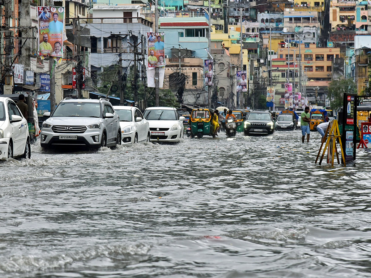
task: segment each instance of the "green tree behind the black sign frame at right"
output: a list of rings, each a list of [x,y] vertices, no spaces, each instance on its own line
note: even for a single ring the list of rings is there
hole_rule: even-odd
[[[344,93],[357,93],[357,85],[353,79],[336,79],[329,83],[328,97],[331,109],[343,106]]]

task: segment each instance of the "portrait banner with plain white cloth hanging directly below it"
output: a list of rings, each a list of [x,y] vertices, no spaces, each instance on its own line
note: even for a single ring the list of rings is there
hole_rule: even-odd
[[[165,41],[164,41],[164,32],[148,32],[148,69],[154,67],[164,67],[165,66]]]

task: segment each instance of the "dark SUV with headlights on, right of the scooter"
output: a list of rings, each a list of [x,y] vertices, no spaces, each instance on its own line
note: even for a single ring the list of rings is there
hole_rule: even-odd
[[[244,122],[244,133],[272,134],[275,124],[269,111],[251,111]]]

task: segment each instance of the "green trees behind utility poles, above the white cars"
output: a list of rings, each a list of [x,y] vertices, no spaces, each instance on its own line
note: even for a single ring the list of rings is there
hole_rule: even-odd
[[[120,86],[124,89],[124,99],[134,100],[134,71],[123,73],[120,78],[118,65],[103,67],[102,73],[98,74],[100,85],[98,92],[106,95],[112,84],[109,95],[120,97]],[[147,107],[155,106],[155,88],[147,87],[147,84],[138,79],[137,81],[138,100],[147,100]],[[179,107],[179,102],[171,90],[159,92],[160,106]]]

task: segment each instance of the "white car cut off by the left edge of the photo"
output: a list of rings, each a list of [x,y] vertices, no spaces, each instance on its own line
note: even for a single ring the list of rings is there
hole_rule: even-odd
[[[0,160],[31,157],[27,120],[9,97],[0,97]]]

